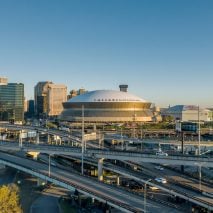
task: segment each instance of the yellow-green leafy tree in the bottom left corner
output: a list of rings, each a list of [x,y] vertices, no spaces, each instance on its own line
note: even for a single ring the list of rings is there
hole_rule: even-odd
[[[22,213],[19,204],[19,189],[15,184],[0,187],[0,212]]]

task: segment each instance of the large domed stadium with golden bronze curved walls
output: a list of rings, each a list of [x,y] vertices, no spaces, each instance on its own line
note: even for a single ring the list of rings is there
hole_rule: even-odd
[[[128,92],[95,90],[63,103],[60,120],[81,122],[146,122],[152,120],[151,103]]]

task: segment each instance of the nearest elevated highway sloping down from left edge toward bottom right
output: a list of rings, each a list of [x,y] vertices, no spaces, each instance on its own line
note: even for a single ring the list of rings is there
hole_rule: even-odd
[[[1,152],[0,163],[16,168],[20,171],[32,174],[43,180],[52,182],[56,185],[73,191],[77,189],[79,192],[93,197],[101,202],[108,203],[123,212],[143,212],[143,197],[124,191],[120,188],[113,187],[92,178],[70,173],[57,167],[51,167],[51,175],[48,175],[48,165],[33,160],[5,154]],[[160,204],[147,202],[147,210],[149,212],[160,213],[162,206]],[[178,211],[165,207],[165,213]]]

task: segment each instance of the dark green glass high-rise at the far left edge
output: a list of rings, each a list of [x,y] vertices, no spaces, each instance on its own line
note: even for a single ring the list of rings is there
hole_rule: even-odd
[[[0,120],[23,122],[24,84],[7,83],[7,81],[0,84]]]

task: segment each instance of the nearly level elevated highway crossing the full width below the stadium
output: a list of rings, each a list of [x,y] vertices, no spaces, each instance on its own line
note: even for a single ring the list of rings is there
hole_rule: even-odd
[[[82,156],[82,149],[71,146],[56,146],[56,145],[44,145],[44,144],[31,144],[17,142],[0,142],[0,149],[2,150],[23,150],[26,152],[41,152],[47,154],[57,155],[71,155]],[[170,165],[187,165],[195,166],[201,164],[202,167],[213,167],[213,158],[201,157],[194,155],[173,155],[173,156],[158,156],[141,152],[129,152],[129,151],[116,151],[116,150],[103,150],[87,148],[84,152],[85,157],[94,157],[97,159],[113,159],[132,162],[145,162],[145,163],[158,163],[158,164],[170,164]]]

